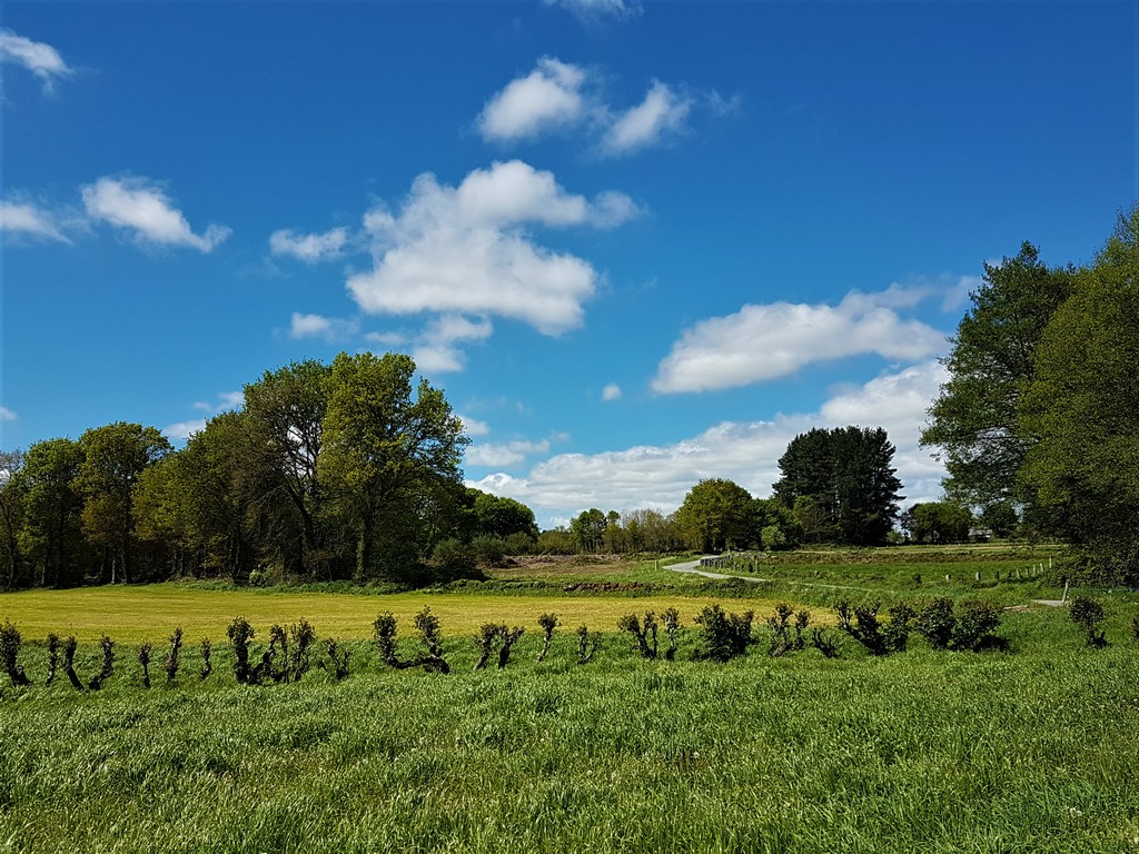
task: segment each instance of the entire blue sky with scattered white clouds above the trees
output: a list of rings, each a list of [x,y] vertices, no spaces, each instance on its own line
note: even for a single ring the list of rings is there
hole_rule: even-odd
[[[935,499],[982,263],[1139,198],[1137,9],[6,2],[0,446],[392,350],[542,525],[846,424]]]

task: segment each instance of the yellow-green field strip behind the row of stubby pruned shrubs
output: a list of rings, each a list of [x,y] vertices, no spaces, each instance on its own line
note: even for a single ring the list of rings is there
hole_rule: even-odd
[[[387,593],[362,596],[327,592],[277,592],[259,590],[202,590],[172,584],[104,586],[81,590],[27,590],[0,594],[0,622],[10,619],[27,640],[49,632],[74,634],[79,641],[98,641],[104,634],[123,643],[165,641],[175,626],[187,638],[226,637],[236,616],[254,626],[288,625],[304,617],[325,638],[344,640],[371,637],[371,623],[390,610],[400,621],[401,634],[413,632],[411,619],[424,606],[440,618],[446,635],[473,634],[486,622],[527,629],[540,614],[558,615],[565,626],[588,625],[593,631],[615,631],[617,618],[633,611],[677,608],[690,623],[713,598],[657,596],[558,597],[480,596],[475,593]],[[767,599],[732,599],[728,610],[754,610],[765,616],[775,606]],[[821,609],[816,619],[826,621]]]

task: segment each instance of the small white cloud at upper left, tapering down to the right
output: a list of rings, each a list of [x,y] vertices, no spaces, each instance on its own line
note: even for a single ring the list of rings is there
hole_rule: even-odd
[[[162,189],[141,178],[100,178],[83,187],[82,192],[89,216],[130,229],[145,243],[212,252],[231,233],[224,225],[210,225],[204,235],[194,233]]]

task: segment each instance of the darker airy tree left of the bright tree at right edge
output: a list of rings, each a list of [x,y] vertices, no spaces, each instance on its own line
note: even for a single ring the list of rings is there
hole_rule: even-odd
[[[949,380],[921,434],[923,445],[941,450],[945,491],[958,502],[986,507],[1017,498],[1016,474],[1032,441],[1018,427],[1017,404],[1074,276],[1046,266],[1025,243],[1016,257],[985,264],[984,284],[969,295],[973,305],[945,360]]]

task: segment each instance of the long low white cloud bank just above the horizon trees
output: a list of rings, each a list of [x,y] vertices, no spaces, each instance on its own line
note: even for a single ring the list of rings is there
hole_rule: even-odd
[[[816,413],[727,421],[672,445],[558,454],[525,476],[499,471],[470,485],[517,499],[546,518],[573,517],[589,507],[671,512],[706,477],[729,478],[754,495],[769,495],[779,479],[779,457],[795,436],[812,427],[858,425],[885,428],[896,446],[894,466],[903,482],[903,506],[933,501],[941,494],[944,469],[918,447],[918,437],[926,408],[944,379],[939,362],[924,362],[846,389]]]

